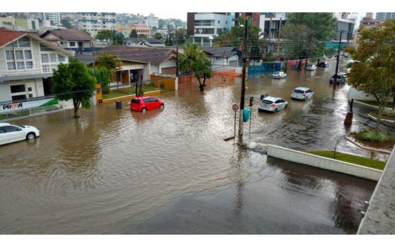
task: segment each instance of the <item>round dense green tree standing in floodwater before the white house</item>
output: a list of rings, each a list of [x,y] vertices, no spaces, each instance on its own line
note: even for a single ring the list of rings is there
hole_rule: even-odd
[[[59,64],[54,70],[53,92],[59,100],[73,100],[74,117],[78,118],[78,109],[90,107],[90,98],[95,93],[96,79],[89,74],[87,66],[75,58],[68,64]]]

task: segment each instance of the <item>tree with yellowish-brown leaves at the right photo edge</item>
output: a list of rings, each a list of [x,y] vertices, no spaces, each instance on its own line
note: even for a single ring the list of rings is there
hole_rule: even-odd
[[[378,132],[384,107],[395,97],[395,20],[374,28],[362,26],[358,35],[358,47],[346,49],[355,60],[347,76],[348,84],[376,98]]]

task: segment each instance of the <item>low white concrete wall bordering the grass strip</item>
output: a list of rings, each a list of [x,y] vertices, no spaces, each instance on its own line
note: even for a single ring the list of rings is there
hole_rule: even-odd
[[[351,164],[340,160],[334,160],[331,158],[325,158],[318,155],[312,155],[309,153],[304,153],[285,147],[278,147],[275,145],[268,145],[267,156],[273,156],[276,158],[281,158],[283,160],[289,160],[292,162],[315,166],[335,172],[346,173],[349,175],[363,177],[374,181],[378,181],[382,173],[382,171],[378,169],[359,166],[356,164]]]

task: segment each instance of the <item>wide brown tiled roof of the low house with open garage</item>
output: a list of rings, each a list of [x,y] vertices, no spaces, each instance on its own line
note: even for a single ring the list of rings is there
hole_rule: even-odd
[[[150,47],[131,47],[125,45],[107,46],[102,49],[124,60],[137,60],[150,62],[152,65],[159,66],[169,59],[175,59],[175,49],[171,48],[150,48]]]

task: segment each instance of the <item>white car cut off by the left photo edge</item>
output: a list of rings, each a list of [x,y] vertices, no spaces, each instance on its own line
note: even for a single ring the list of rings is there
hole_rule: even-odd
[[[39,136],[40,131],[36,127],[0,123],[0,145],[15,141],[34,140]]]

